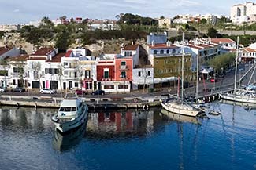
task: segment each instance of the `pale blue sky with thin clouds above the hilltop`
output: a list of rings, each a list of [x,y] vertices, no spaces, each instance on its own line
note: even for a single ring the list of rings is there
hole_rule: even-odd
[[[0,0],[0,24],[26,24],[43,16],[80,16],[115,19],[119,13],[150,17],[173,17],[177,14],[228,15],[232,5],[244,0]]]

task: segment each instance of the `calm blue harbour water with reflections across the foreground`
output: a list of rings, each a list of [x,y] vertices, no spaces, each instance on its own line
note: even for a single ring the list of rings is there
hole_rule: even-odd
[[[0,109],[0,169],[256,169],[256,110],[212,103],[196,120],[161,109],[91,113],[61,136],[56,110]]]

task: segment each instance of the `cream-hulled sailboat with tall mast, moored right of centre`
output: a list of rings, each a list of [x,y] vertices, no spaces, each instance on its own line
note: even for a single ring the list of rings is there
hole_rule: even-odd
[[[174,114],[183,114],[187,116],[195,117],[197,116],[201,110],[194,107],[190,103],[186,103],[184,101],[184,33],[183,33],[183,45],[182,45],[182,68],[181,68],[181,98],[172,96],[169,99],[165,99],[161,101],[161,106],[170,112],[173,112]]]

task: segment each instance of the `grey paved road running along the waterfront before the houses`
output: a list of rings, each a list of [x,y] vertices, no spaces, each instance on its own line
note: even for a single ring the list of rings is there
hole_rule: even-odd
[[[237,74],[237,81],[239,78],[245,74],[250,67],[252,67],[252,64],[240,64],[238,67],[238,74]],[[243,81],[240,83],[241,85],[247,85],[248,81],[250,80],[250,74],[253,72],[254,69],[250,71],[250,73],[243,79]],[[210,94],[210,92],[217,92],[219,90],[228,90],[232,89],[234,86],[234,75],[235,75],[235,68],[232,68],[231,71],[228,71],[228,73],[224,76],[224,78],[217,78],[217,82],[210,82],[203,80],[198,82],[198,96],[204,96],[207,94]],[[256,73],[254,73],[254,76],[252,78],[252,81],[255,82],[256,80]],[[239,85],[240,85],[239,84]],[[215,87],[215,91],[213,90]],[[206,90],[205,90],[206,89]],[[120,97],[144,97],[144,98],[152,98],[154,96],[161,96],[163,94],[168,94],[169,92],[172,94],[176,94],[177,88],[175,87],[169,87],[169,88],[163,88],[162,90],[158,89],[156,92],[145,92],[143,91],[135,91],[135,92],[119,92],[119,93],[106,93],[105,96],[92,96],[92,95],[85,95],[83,97],[87,98],[120,98]],[[2,92],[2,95],[10,95],[10,96],[52,96],[52,97],[61,97],[61,93],[56,94],[41,94],[39,92]],[[187,96],[195,96],[195,86],[184,89],[184,95]]]

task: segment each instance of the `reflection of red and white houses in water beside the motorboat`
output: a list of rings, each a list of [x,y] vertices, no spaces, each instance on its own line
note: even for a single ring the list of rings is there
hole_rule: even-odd
[[[87,136],[92,138],[145,136],[153,131],[154,120],[158,117],[158,114],[154,114],[154,110],[90,113],[87,122]]]

